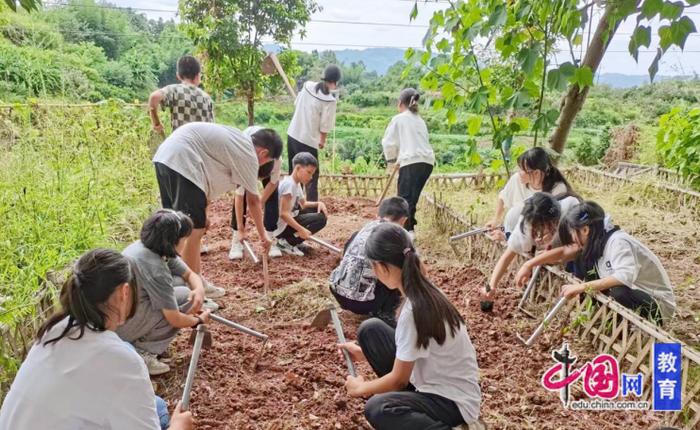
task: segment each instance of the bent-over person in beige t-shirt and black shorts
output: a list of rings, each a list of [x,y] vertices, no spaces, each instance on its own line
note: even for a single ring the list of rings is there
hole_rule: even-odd
[[[208,203],[239,185],[248,191],[250,213],[263,248],[269,250],[258,195],[258,169],[281,153],[282,140],[274,130],[260,130],[248,137],[233,127],[205,122],[183,125],[158,147],[153,163],[163,207],[187,214],[194,223],[182,252],[193,272],[201,274],[199,252],[208,225]],[[207,296],[224,294],[223,288],[206,280],[204,284]]]

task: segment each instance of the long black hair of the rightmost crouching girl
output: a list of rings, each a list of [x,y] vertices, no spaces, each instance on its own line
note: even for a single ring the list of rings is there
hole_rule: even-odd
[[[559,238],[563,245],[574,243],[572,232],[588,227],[588,240],[581,250],[580,262],[586,268],[593,267],[603,255],[609,235],[605,231],[605,211],[596,202],[585,201],[571,208],[559,222]]]

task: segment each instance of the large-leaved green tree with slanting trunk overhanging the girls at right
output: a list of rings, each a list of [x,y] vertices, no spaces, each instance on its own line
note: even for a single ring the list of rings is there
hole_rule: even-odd
[[[637,59],[640,47],[651,44],[650,21],[657,17],[662,25],[657,56],[649,67],[654,78],[659,59],[672,46],[681,49],[695,26],[686,8],[700,0],[609,0],[602,3],[603,14],[590,39],[590,16],[597,2],[579,0],[457,0],[437,11],[430,22],[422,54],[407,51],[407,58],[418,60],[426,69],[422,85],[440,91],[436,106],[444,108],[448,122],[456,121],[456,112],[464,107],[488,115],[493,143],[507,152],[515,133],[534,132],[538,137],[552,126],[550,145],[564,148],[573,120],[593,85],[593,76],[620,22],[637,17],[630,37],[630,54]],[[411,18],[418,13],[417,2]],[[586,27],[588,26],[588,36]],[[575,51],[589,38],[583,58]],[[571,61],[552,64],[555,47],[568,46]],[[505,77],[497,73],[506,66]],[[568,87],[559,109],[544,104],[545,91]],[[502,114],[498,114],[500,111]],[[527,116],[534,118],[528,121]],[[471,117],[470,130],[478,130],[480,119]]]

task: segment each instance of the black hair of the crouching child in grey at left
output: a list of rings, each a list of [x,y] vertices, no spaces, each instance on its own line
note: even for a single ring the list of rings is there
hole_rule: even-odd
[[[180,239],[192,234],[192,219],[182,212],[160,209],[143,223],[141,243],[161,257],[175,258]]]

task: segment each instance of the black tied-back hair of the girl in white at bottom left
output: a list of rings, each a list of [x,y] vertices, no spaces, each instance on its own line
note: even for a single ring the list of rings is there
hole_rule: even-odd
[[[136,280],[129,260],[111,249],[94,249],[83,254],[73,266],[70,277],[61,288],[61,311],[49,318],[37,333],[40,342],[53,326],[68,317],[68,325],[58,336],[44,341],[44,346],[58,342],[77,327],[78,334],[68,337],[77,340],[85,329],[105,331],[107,320],[105,304],[112,293],[125,282],[131,287],[131,310],[136,312]]]

